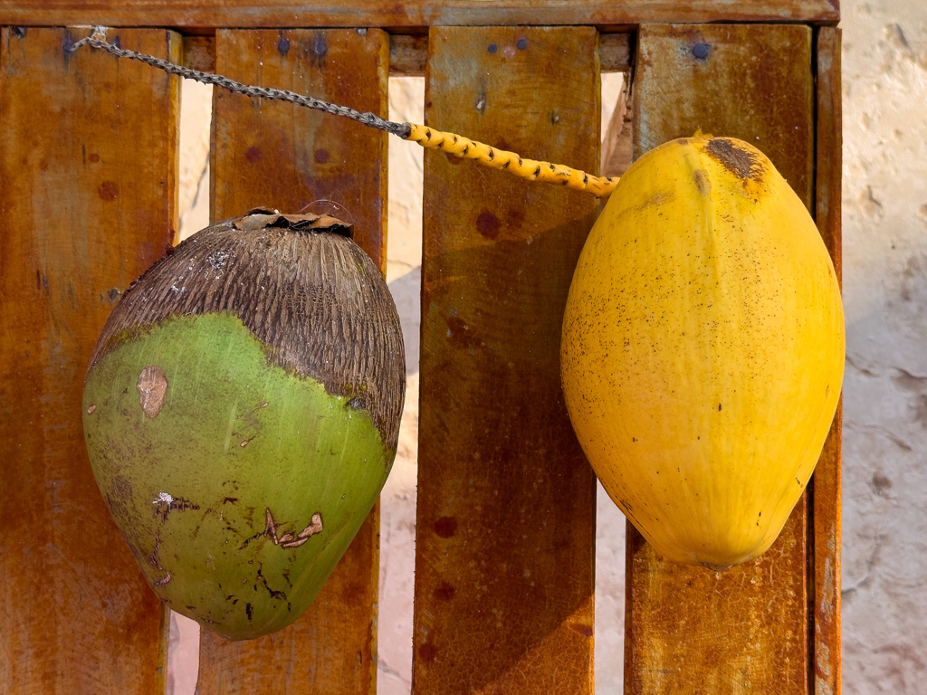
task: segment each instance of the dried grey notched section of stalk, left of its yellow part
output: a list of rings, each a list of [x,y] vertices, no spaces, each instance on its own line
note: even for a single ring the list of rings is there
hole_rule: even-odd
[[[379,116],[376,116],[369,111],[367,113],[361,113],[353,108],[341,107],[337,104],[329,104],[327,101],[322,101],[321,99],[315,99],[311,96],[298,95],[296,92],[290,92],[286,89],[273,89],[272,87],[258,87],[253,84],[243,84],[242,82],[235,82],[235,80],[230,80],[227,77],[222,75],[215,75],[210,72],[200,72],[192,68],[184,68],[180,65],[175,65],[169,60],[162,60],[154,56],[148,56],[146,53],[138,53],[137,51],[129,51],[119,46],[110,44],[104,39],[95,38],[97,36],[105,36],[105,32],[100,27],[95,27],[94,32],[87,36],[84,39],[81,39],[75,44],[71,44],[66,48],[69,53],[73,53],[78,48],[83,45],[89,45],[94,48],[102,48],[104,51],[111,53],[116,57],[127,57],[132,58],[133,60],[138,60],[140,62],[146,63],[154,68],[162,69],[165,72],[170,73],[171,75],[180,75],[188,80],[196,80],[197,82],[203,82],[204,84],[215,84],[217,87],[222,87],[222,89],[227,89],[229,92],[235,92],[235,94],[246,95],[246,96],[257,96],[261,99],[271,99],[273,101],[286,101],[290,104],[297,104],[300,107],[314,108],[318,111],[324,111],[325,113],[330,113],[333,116],[344,116],[350,120],[356,120],[358,123],[363,125],[370,126],[371,128],[376,128],[380,131],[386,131],[387,133],[392,133],[398,135],[403,140],[409,137],[409,133],[412,132],[412,126],[409,123],[395,123],[391,120],[381,119]]]

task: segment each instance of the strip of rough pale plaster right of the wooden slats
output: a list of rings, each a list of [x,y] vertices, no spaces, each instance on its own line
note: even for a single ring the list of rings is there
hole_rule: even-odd
[[[927,3],[844,0],[844,692],[927,692]]]

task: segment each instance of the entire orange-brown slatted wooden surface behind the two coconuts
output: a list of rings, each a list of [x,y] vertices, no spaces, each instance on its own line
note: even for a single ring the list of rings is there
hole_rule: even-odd
[[[838,19],[837,0],[0,0],[0,691],[164,689],[165,613],[97,492],[79,409],[109,310],[176,238],[179,82],[68,56],[88,30],[62,26],[116,27],[123,47],[382,116],[390,70],[424,74],[429,125],[587,171],[601,71],[631,69],[635,156],[696,128],[755,142],[839,272]],[[212,139],[214,219],[351,200],[385,268],[386,134],[217,90]],[[420,695],[592,692],[595,479],[557,354],[597,212],[425,154]],[[839,693],[840,441],[838,415],[756,562],[673,565],[629,526],[627,693]],[[375,510],[295,625],[246,643],[204,633],[199,692],[373,693],[377,568]]]

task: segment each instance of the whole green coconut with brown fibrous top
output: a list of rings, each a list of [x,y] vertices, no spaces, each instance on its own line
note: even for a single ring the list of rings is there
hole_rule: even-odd
[[[349,234],[267,208],[205,229],[125,293],[90,361],[109,512],[160,600],[225,638],[310,606],[396,454],[399,316]]]

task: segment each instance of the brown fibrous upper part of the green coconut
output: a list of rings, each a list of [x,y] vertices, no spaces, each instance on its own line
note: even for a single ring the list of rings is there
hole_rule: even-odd
[[[166,319],[227,312],[264,345],[269,362],[369,411],[395,450],[405,397],[399,315],[350,234],[333,217],[270,208],[194,234],[126,291],[89,368]]]

